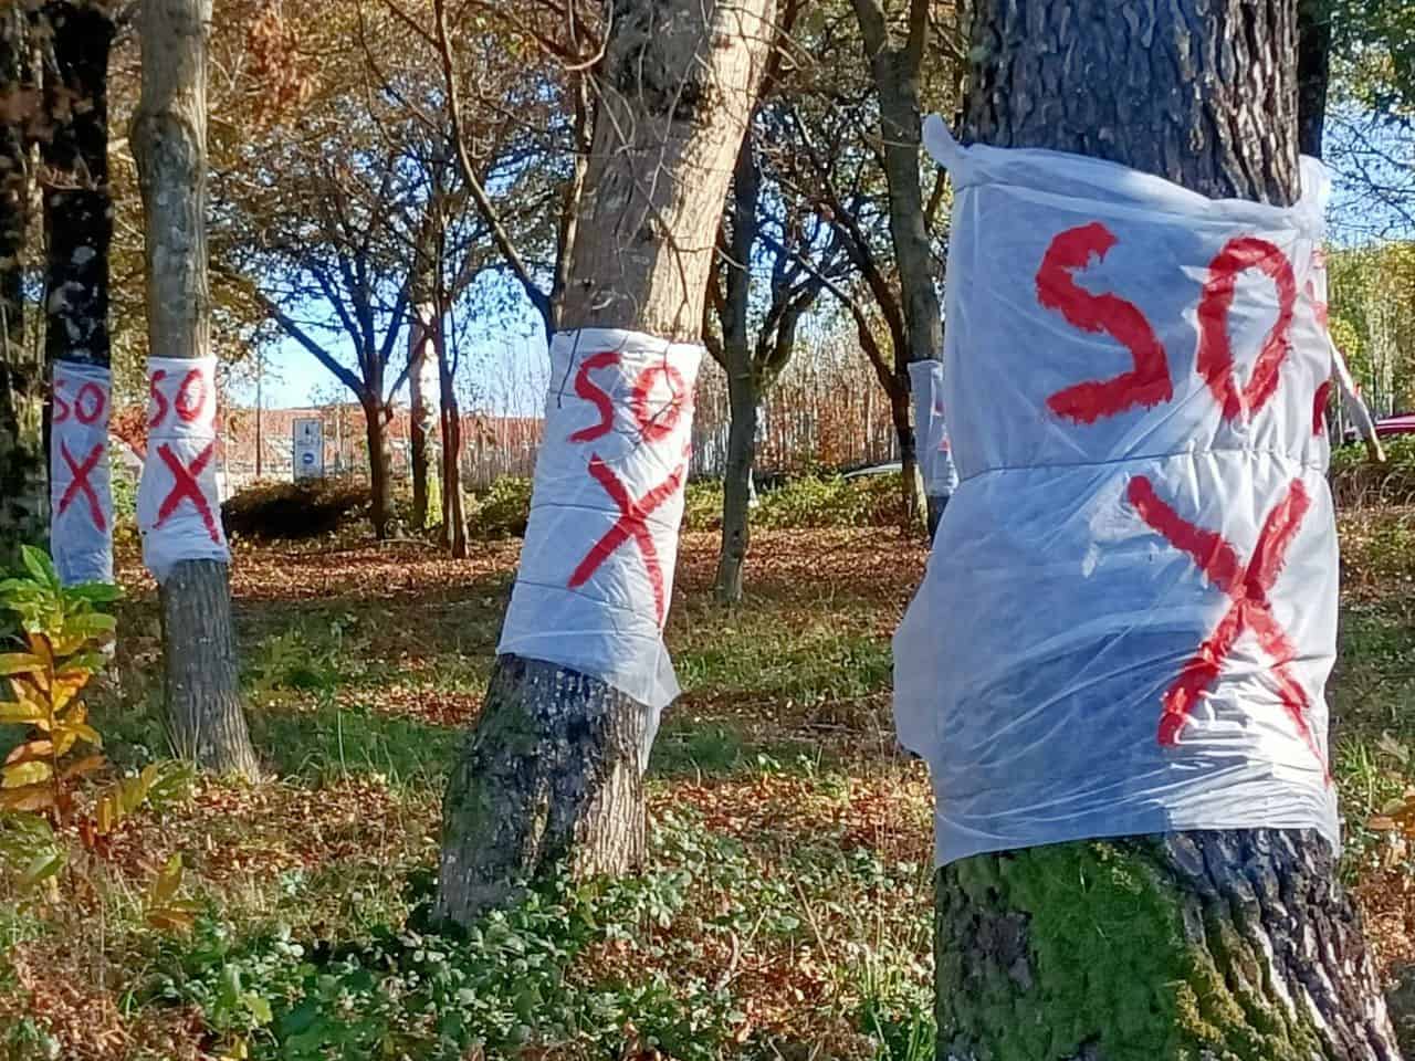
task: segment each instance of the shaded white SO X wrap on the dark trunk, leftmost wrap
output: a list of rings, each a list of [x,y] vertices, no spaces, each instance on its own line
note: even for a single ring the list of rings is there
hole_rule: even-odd
[[[112,376],[106,368],[71,361],[54,364],[50,547],[65,586],[113,581],[110,403]]]

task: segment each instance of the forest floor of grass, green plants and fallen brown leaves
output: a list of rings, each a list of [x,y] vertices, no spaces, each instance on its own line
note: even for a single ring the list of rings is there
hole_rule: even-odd
[[[1415,784],[1415,509],[1348,516],[1343,538],[1344,869],[1395,983],[1415,965],[1415,873],[1367,822]],[[443,779],[516,547],[241,547],[270,778],[188,779],[52,891],[0,883],[0,1058],[931,1057],[931,796],[889,705],[923,543],[760,532],[729,611],[715,536],[686,535],[668,630],[685,696],[654,750],[649,871],[550,881],[437,935],[422,911]],[[95,724],[139,768],[167,755],[157,611],[136,557],[122,580]],[[200,912],[158,931],[144,895],[173,853]]]

